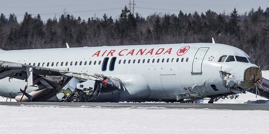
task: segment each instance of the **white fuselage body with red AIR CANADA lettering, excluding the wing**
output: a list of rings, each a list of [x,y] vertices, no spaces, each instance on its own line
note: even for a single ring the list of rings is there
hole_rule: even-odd
[[[222,56],[249,58],[238,48],[211,43],[0,51],[1,61],[68,68],[72,72],[98,73],[120,79],[124,74],[138,74],[148,84],[149,99],[153,100],[205,98],[230,93],[220,76],[221,70],[235,74],[236,82],[242,81],[245,69],[257,67],[237,61],[218,62]],[[108,58],[107,64],[105,58]],[[0,96],[13,98],[25,84],[22,80],[1,79]],[[136,84],[139,85],[135,83],[134,87]]]

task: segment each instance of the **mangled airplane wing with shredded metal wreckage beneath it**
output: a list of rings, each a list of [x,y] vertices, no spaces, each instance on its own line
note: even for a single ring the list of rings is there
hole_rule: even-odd
[[[69,102],[95,101],[102,87],[120,89],[121,80],[101,74],[86,74],[64,69],[31,66],[26,64],[0,61],[0,79],[5,77],[25,80],[22,95],[17,101],[46,101],[57,96]],[[35,87],[29,94],[28,86]]]

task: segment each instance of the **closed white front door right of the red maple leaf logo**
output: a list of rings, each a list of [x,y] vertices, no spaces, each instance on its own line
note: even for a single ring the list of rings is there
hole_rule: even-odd
[[[202,65],[203,65],[203,60],[205,58],[206,52],[208,51],[209,48],[203,47],[199,48],[193,58],[192,62],[192,71],[191,74],[202,74]]]

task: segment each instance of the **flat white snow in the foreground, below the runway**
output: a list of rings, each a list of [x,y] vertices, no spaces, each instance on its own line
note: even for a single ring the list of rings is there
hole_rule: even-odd
[[[268,111],[0,106],[0,134],[268,134]]]

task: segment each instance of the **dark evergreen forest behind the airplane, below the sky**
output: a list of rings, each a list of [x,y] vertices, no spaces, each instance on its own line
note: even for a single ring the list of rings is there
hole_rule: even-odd
[[[41,20],[38,14],[24,14],[18,23],[15,14],[0,15],[0,48],[39,49],[136,44],[212,42],[238,47],[262,69],[269,69],[269,7],[239,15],[230,13],[153,14],[146,18],[125,6],[120,17],[90,17],[88,20],[63,13],[59,18]]]

